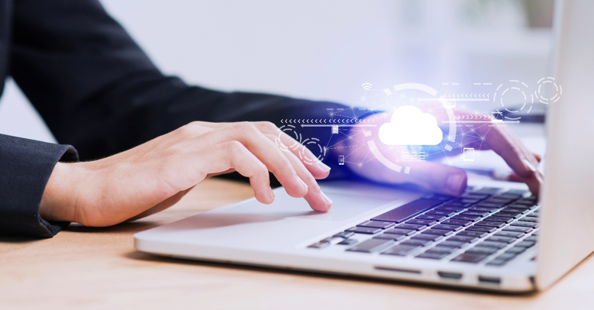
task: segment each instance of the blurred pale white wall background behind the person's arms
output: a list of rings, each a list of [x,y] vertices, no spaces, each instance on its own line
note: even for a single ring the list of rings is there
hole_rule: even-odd
[[[548,30],[513,1],[102,0],[166,74],[222,90],[355,103],[361,84],[536,81]],[[53,137],[8,81],[0,132]]]

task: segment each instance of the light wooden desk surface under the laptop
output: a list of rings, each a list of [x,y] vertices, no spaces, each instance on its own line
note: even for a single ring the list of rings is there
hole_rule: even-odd
[[[251,197],[210,179],[169,210],[52,239],[0,239],[0,309],[579,309],[594,307],[589,257],[544,293],[497,295],[419,284],[175,260],[136,252],[132,234]]]

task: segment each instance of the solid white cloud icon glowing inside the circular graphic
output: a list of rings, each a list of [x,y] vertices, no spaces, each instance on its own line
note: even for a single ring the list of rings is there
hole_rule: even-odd
[[[442,137],[435,117],[414,106],[399,107],[380,127],[380,141],[388,145],[435,145]]]

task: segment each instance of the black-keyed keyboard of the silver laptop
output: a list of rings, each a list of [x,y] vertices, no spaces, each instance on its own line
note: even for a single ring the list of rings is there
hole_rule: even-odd
[[[366,220],[308,248],[501,266],[536,244],[538,209],[530,192],[468,188],[431,194]],[[355,235],[370,238],[359,242]],[[358,238],[361,239],[361,238]]]

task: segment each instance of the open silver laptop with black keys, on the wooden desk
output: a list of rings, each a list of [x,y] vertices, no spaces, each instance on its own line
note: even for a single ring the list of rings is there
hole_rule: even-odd
[[[551,286],[594,251],[594,11],[555,7],[546,178],[469,181],[461,197],[353,182],[323,182],[328,213],[274,190],[134,235],[138,251],[191,260],[443,284],[502,292]]]

